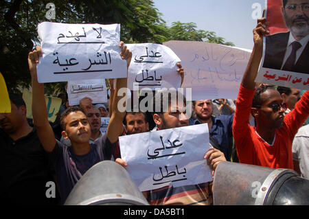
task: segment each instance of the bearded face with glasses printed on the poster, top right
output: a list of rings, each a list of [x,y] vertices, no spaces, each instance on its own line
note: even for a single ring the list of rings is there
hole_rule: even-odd
[[[309,34],[309,1],[289,0],[282,8],[282,14],[288,30],[296,40],[300,40]]]

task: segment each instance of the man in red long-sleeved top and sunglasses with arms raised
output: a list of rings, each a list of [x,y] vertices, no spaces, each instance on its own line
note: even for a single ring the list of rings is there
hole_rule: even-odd
[[[286,105],[272,86],[260,86],[255,91],[255,78],[263,52],[266,19],[258,19],[253,30],[253,51],[240,84],[233,119],[233,137],[240,163],[268,168],[293,169],[292,142],[297,130],[309,115],[309,91],[284,116]],[[249,125],[249,114],[255,117],[256,127]]]

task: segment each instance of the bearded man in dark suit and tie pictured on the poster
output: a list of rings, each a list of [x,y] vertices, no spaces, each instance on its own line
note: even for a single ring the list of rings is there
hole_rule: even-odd
[[[266,37],[263,67],[309,73],[309,0],[283,0],[288,32]]]

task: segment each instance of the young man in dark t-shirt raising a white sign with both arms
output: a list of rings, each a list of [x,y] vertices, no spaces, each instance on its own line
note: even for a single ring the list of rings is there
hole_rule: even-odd
[[[127,49],[123,42],[119,43],[122,48],[120,56],[126,60],[127,69],[130,65],[132,53]],[[40,138],[43,148],[51,154],[56,166],[56,174],[58,175],[60,194],[62,203],[65,202],[67,196],[71,192],[73,186],[78,182],[82,174],[87,172],[95,163],[104,159],[111,159],[113,150],[115,150],[115,143],[119,135],[122,134],[123,126],[122,119],[124,113],[117,109],[117,103],[122,96],[115,95],[113,101],[113,115],[108,124],[106,135],[102,136],[100,141],[96,144],[90,144],[91,128],[81,108],[68,108],[61,115],[60,123],[62,126],[62,137],[71,140],[71,147],[62,145],[54,137],[52,127],[47,120],[47,110],[44,98],[44,84],[38,83],[36,65],[39,62],[39,57],[42,56],[40,47],[30,52],[28,56],[28,63],[30,73],[32,76],[32,90],[33,97],[32,106],[34,126],[38,130],[38,137]],[[43,73],[43,72],[41,72]],[[126,78],[117,78],[116,90],[126,87]]]

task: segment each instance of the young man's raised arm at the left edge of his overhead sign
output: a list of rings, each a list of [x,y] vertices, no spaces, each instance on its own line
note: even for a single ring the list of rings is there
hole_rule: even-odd
[[[28,55],[28,65],[32,79],[32,115],[34,126],[36,127],[38,138],[40,139],[43,148],[47,152],[52,152],[56,146],[56,139],[52,126],[47,119],[47,107],[44,97],[44,84],[38,83],[36,64],[38,58],[42,56],[41,47],[36,46],[36,50]]]

